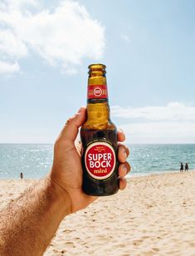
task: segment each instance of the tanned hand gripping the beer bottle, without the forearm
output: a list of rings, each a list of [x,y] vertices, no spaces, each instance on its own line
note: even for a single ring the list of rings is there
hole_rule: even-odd
[[[51,181],[58,187],[68,204],[69,213],[84,209],[92,203],[96,196],[90,196],[82,191],[82,165],[81,165],[81,144],[76,140],[79,127],[85,122],[85,107],[81,107],[75,116],[66,121],[61,134],[56,140],[54,147],[54,160],[51,168]],[[118,131],[118,140],[124,141],[125,136],[122,130]],[[130,171],[130,165],[126,161],[129,149],[119,143],[119,189],[124,190],[126,180],[124,176]]]

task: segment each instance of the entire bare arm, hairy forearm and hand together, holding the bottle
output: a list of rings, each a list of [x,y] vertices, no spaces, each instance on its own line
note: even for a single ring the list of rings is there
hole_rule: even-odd
[[[81,145],[76,136],[85,118],[81,107],[66,121],[54,146],[51,172],[0,211],[0,255],[44,254],[61,221],[97,199],[82,191]],[[119,130],[118,140],[124,139]],[[125,189],[124,176],[130,171],[128,155],[129,149],[119,143],[120,190]]]

